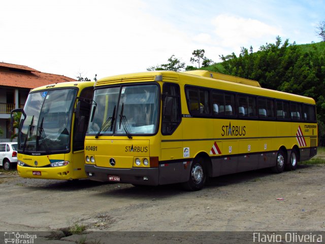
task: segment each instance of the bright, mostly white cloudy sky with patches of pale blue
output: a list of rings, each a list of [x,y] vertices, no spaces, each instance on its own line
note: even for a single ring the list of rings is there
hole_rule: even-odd
[[[257,51],[279,36],[319,42],[325,0],[13,0],[0,8],[0,62],[97,78],[143,72],[193,50]]]

